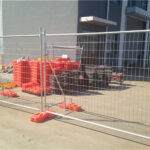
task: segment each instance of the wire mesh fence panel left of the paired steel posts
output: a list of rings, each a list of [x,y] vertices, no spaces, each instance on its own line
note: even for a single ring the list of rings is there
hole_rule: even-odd
[[[0,99],[21,106],[43,109],[40,97],[40,34],[10,35],[1,38],[3,49],[0,62]],[[44,69],[44,65],[41,68]]]

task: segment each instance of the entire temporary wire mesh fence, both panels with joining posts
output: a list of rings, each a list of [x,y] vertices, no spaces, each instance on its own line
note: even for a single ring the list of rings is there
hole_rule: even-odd
[[[149,30],[1,38],[0,102],[150,139]]]

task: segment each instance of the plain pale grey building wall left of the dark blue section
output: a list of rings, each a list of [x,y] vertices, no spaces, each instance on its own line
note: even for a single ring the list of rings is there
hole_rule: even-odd
[[[3,2],[3,33],[37,34],[40,27],[47,33],[77,32],[78,1],[5,1]],[[48,38],[48,44],[76,42],[76,37]],[[4,40],[5,63],[21,56],[39,56],[39,38]]]

